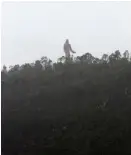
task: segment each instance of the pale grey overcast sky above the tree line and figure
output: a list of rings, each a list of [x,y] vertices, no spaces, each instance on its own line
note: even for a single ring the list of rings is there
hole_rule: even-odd
[[[62,56],[131,52],[131,2],[9,2],[2,6],[2,65]]]

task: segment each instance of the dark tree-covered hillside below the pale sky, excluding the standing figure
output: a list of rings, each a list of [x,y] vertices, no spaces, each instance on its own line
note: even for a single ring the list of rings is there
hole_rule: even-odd
[[[119,50],[1,71],[5,155],[131,154],[131,61]]]

